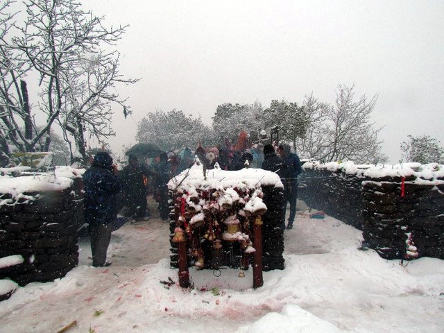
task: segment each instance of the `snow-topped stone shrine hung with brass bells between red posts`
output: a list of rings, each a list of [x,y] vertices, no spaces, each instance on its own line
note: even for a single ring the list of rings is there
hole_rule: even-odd
[[[253,267],[253,287],[262,271],[283,269],[284,202],[278,175],[262,169],[206,170],[198,160],[171,179],[171,256],[181,287],[189,267]]]

